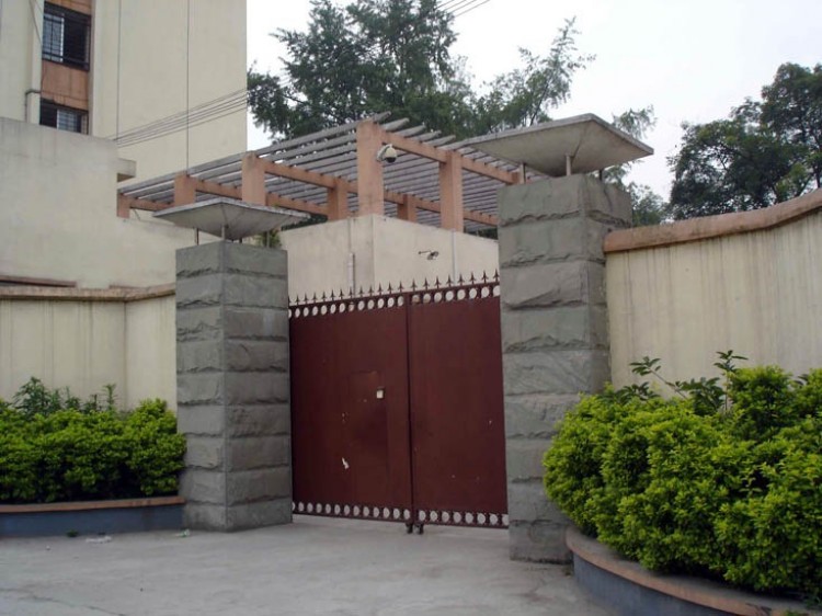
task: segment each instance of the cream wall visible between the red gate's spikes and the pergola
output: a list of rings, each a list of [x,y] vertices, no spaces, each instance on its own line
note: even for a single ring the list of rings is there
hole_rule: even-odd
[[[492,276],[499,266],[496,242],[476,236],[407,223],[384,216],[363,216],[301,227],[281,233],[288,251],[288,293],[339,293],[350,287],[349,263],[354,256],[354,284],[366,292],[412,281],[473,273]],[[436,251],[427,259],[424,251]]]

